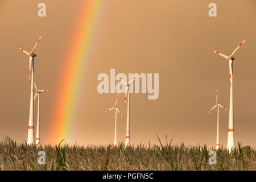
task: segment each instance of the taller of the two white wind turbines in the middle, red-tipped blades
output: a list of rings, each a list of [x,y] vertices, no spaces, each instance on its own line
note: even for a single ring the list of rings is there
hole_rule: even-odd
[[[123,82],[123,84],[126,85],[126,92],[125,92],[125,102],[126,102],[126,96],[128,93],[128,98],[127,98],[127,122],[126,122],[126,136],[125,136],[125,146],[129,146],[130,145],[130,83],[133,82],[136,78],[138,78],[139,76],[141,76],[141,74],[139,74],[138,76],[134,77],[133,80],[131,80],[130,82],[128,82],[128,84],[123,81],[122,78],[120,78],[118,75],[116,75],[119,80],[121,80]]]

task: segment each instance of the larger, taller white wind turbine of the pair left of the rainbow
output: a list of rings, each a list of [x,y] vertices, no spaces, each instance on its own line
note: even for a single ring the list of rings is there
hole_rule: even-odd
[[[22,48],[18,47],[22,52],[26,53],[26,55],[30,58],[30,71],[29,71],[29,81],[30,81],[30,115],[28,119],[28,134],[27,134],[27,144],[34,145],[35,144],[35,138],[34,138],[34,60],[35,60],[35,53],[34,49],[38,45],[39,40],[42,38],[43,34],[38,39],[38,42],[36,42],[34,48],[30,53],[23,50]],[[31,69],[32,68],[32,69]]]

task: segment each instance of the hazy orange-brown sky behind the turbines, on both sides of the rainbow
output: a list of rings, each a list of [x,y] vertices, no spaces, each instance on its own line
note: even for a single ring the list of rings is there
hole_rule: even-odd
[[[47,5],[47,17],[37,15],[38,3]],[[79,144],[107,144],[114,139],[114,112],[104,113],[114,104],[115,94],[99,94],[99,73],[159,73],[159,98],[131,94],[131,143],[158,143],[164,140],[214,146],[217,110],[207,111],[218,100],[229,107],[228,61],[211,49],[234,60],[235,141],[255,144],[256,3],[214,1],[217,17],[208,16],[212,1],[106,1],[102,8],[90,59],[84,68],[77,111],[72,121],[71,141]],[[63,71],[72,26],[81,1],[3,1],[0,0],[0,137],[22,142],[27,139],[29,85],[28,60],[18,46],[36,48],[37,86],[51,89],[40,97],[43,143],[51,126],[52,102],[61,90],[57,83]],[[126,108],[124,95],[118,105],[124,118],[118,118],[118,142],[125,139]],[[36,118],[36,115],[35,115]],[[226,147],[228,112],[220,110],[220,143]]]

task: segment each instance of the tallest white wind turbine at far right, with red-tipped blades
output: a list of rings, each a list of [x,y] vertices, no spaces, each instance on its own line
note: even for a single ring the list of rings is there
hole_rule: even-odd
[[[247,40],[248,38],[246,38],[245,40]],[[220,52],[217,51],[213,51],[215,53],[217,53],[218,55],[225,57],[226,59],[229,60],[229,79],[230,79],[230,99],[229,99],[229,129],[228,129],[228,144],[227,144],[227,148],[229,150],[229,152],[232,150],[232,148],[235,147],[235,143],[234,143],[234,111],[233,111],[233,60],[234,60],[234,53],[237,51],[238,48],[240,48],[242,46],[242,44],[245,42],[245,40],[243,40],[243,42],[232,52],[232,54],[230,56],[226,56]]]

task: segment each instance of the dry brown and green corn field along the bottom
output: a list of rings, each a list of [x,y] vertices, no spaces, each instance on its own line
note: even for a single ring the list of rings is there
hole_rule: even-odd
[[[185,147],[159,140],[158,145],[109,146],[27,146],[9,137],[0,142],[0,170],[251,170],[255,148],[238,148],[230,154],[217,151],[217,164],[210,165],[207,146]],[[39,151],[46,152],[46,164],[38,164]]]

